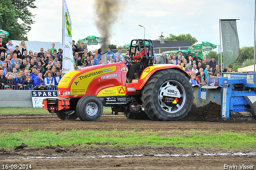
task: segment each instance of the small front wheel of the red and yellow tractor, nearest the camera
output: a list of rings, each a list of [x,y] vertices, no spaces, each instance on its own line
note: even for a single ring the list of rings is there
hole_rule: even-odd
[[[78,101],[76,112],[82,121],[97,121],[102,116],[103,104],[98,97],[86,95]]]

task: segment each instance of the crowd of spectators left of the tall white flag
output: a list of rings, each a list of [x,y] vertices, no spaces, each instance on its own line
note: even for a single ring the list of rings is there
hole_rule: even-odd
[[[32,52],[22,40],[20,44],[8,44],[0,38],[0,90],[33,90],[46,86],[48,90],[57,90],[62,78],[62,49],[54,48]]]

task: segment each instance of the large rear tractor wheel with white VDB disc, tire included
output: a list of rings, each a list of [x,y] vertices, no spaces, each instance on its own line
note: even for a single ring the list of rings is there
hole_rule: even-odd
[[[142,89],[142,106],[151,120],[180,120],[191,110],[193,88],[184,73],[169,69],[153,74]]]

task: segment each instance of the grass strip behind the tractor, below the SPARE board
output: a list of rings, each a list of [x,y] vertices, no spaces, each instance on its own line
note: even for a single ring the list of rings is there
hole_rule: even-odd
[[[111,107],[104,107],[103,113],[110,113]],[[20,114],[20,113],[49,113],[44,108],[24,108],[24,107],[5,107],[0,108],[0,114]]]

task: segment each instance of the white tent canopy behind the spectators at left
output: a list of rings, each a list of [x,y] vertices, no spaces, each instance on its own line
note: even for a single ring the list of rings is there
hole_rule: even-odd
[[[12,44],[14,46],[18,46],[20,42],[21,40],[12,40]],[[25,41],[25,44],[28,46],[27,50],[32,50],[33,54],[34,52],[40,52],[40,48],[44,48],[44,51],[47,51],[48,49],[52,48],[52,43],[55,44],[54,48],[57,49],[57,52],[59,48],[62,49],[62,44],[60,42]]]

